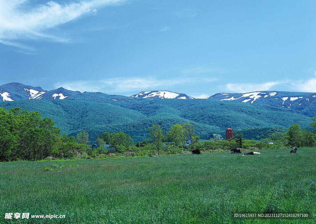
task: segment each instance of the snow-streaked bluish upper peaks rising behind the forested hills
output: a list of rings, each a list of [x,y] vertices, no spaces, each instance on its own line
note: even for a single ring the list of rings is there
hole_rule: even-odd
[[[27,99],[65,99],[66,97],[80,96],[80,94],[82,93],[79,91],[70,91],[63,87],[56,90],[46,91],[41,87],[33,87],[21,83],[0,85],[0,101],[2,100],[3,102]],[[132,95],[131,97],[146,99],[194,99],[184,93],[171,91],[143,91]],[[309,117],[316,115],[316,93],[285,91],[216,93],[207,99],[265,104],[273,107],[292,109],[295,113]],[[112,100],[115,101],[117,99],[113,98]]]

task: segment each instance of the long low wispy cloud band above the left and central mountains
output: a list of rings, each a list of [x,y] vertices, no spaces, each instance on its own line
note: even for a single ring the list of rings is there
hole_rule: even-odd
[[[108,94],[126,94],[130,91],[153,91],[153,90],[168,90],[173,86],[185,84],[199,84],[211,82],[210,79],[196,79],[194,77],[174,78],[174,79],[158,79],[158,78],[110,78],[98,81],[79,80],[74,82],[59,82],[54,84],[55,88],[64,87],[72,91],[87,91],[87,92],[104,92]],[[170,89],[170,91],[173,91]],[[133,93],[135,94],[135,93]],[[128,95],[128,94],[127,94]],[[132,94],[131,94],[132,95]],[[206,96],[206,95],[205,95]]]

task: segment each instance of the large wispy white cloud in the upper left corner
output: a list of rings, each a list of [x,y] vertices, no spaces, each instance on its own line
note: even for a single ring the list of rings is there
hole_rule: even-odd
[[[19,43],[21,39],[44,38],[57,42],[67,42],[50,33],[50,29],[73,21],[84,14],[96,13],[96,7],[114,5],[125,0],[85,0],[59,4],[49,1],[46,4],[31,6],[30,0],[0,0],[0,43],[27,48]]]

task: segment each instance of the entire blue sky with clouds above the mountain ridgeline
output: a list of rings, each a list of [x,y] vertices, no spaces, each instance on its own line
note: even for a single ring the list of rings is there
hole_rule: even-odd
[[[0,85],[316,92],[316,1],[0,0]]]

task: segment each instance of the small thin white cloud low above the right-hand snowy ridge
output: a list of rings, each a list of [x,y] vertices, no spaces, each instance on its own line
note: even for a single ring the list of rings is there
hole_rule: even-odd
[[[253,91],[267,91],[276,85],[285,82],[266,82],[266,83],[228,83],[225,85],[226,89],[234,93],[245,93]]]

